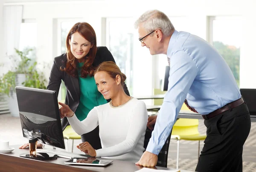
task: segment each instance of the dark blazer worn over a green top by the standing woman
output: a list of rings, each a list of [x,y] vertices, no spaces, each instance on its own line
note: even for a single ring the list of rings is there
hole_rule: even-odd
[[[67,104],[70,107],[70,109],[73,110],[73,112],[75,112],[80,101],[79,79],[78,77],[70,76],[65,71],[60,70],[60,67],[65,67],[66,61],[67,61],[66,54],[61,54],[60,56],[54,58],[47,90],[54,90],[57,92],[57,95],[58,95],[58,92],[61,86],[61,80],[63,80],[67,88],[65,104]],[[93,66],[97,67],[102,62],[108,62],[108,61],[115,62],[108,48],[97,47],[97,53],[93,61]],[[125,90],[125,93],[128,96],[130,96],[126,85],[124,85],[124,90]],[[108,100],[108,102],[109,101],[110,99]],[[61,125],[62,125],[62,130],[64,130],[67,127],[68,125],[67,117],[62,119]]]

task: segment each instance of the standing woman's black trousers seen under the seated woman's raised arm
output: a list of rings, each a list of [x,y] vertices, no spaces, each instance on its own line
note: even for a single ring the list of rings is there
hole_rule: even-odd
[[[89,133],[81,135],[82,142],[87,141],[93,149],[101,149],[101,143],[99,138],[99,125]]]

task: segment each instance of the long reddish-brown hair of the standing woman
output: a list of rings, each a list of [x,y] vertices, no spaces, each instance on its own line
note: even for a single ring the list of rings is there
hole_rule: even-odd
[[[77,62],[78,60],[76,57],[72,54],[70,50],[70,43],[69,40],[71,39],[72,34],[78,32],[84,39],[89,41],[91,45],[93,45],[92,48],[90,48],[90,51],[88,54],[84,57],[84,65],[81,67],[81,72],[80,76],[82,78],[86,78],[87,75],[93,76],[94,74],[94,66],[93,66],[93,61],[96,56],[97,52],[97,45],[96,45],[96,34],[93,29],[93,27],[89,23],[76,23],[73,25],[73,27],[70,29],[69,33],[67,34],[67,39],[66,39],[66,54],[67,54],[67,62],[64,68],[61,67],[62,71],[67,72],[69,75],[73,77],[78,76],[78,71],[77,71]]]

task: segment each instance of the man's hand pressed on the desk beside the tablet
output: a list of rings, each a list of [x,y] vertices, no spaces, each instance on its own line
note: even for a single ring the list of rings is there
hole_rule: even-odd
[[[144,167],[154,167],[157,165],[157,155],[148,151],[145,151],[140,158],[140,161],[135,163],[136,165]]]

